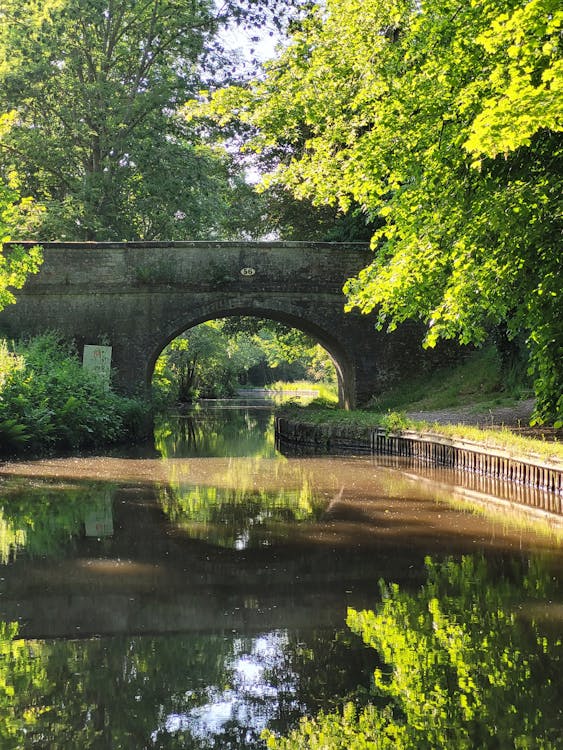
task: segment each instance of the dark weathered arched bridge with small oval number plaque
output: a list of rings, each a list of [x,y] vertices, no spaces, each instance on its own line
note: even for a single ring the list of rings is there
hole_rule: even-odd
[[[31,244],[31,243],[23,243]],[[57,330],[112,347],[115,383],[143,392],[163,348],[192,326],[252,315],[301,329],[332,356],[341,405],[365,403],[428,356],[412,326],[378,332],[345,313],[344,281],[367,245],[310,242],[43,243],[41,270],[0,313],[9,337]]]

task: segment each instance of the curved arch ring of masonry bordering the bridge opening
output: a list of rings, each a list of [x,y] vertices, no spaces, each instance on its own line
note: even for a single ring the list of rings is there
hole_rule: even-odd
[[[336,370],[336,377],[338,380],[338,400],[341,406],[348,407],[353,402],[354,394],[354,368],[350,362],[349,357],[344,349],[344,346],[335,338],[333,334],[328,332],[325,328],[318,325],[317,323],[308,320],[305,317],[301,317],[294,313],[288,313],[283,310],[275,310],[266,307],[249,307],[245,306],[234,306],[230,307],[228,304],[214,307],[213,310],[186,312],[186,322],[181,324],[178,321],[174,321],[160,339],[155,342],[154,349],[150,352],[147,359],[147,369],[145,373],[145,382],[147,386],[150,386],[152,376],[154,373],[154,367],[156,360],[168,344],[175,338],[185,333],[190,328],[206,323],[209,320],[216,320],[218,318],[234,318],[234,317],[253,317],[262,318],[267,320],[275,320],[279,323],[283,323],[290,328],[297,328],[300,331],[308,334],[315,339],[330,355],[334,368]]]

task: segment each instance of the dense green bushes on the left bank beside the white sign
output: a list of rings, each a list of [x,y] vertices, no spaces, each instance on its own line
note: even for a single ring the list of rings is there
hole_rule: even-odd
[[[2,452],[76,449],[142,431],[148,407],[108,390],[55,334],[15,344],[13,354],[3,342],[0,352]]]

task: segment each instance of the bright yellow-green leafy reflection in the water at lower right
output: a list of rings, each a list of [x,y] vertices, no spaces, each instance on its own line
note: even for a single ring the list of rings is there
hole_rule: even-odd
[[[516,614],[523,596],[546,595],[549,576],[532,567],[521,586],[470,556],[426,566],[418,593],[381,582],[377,610],[348,611],[385,662],[372,705],[305,719],[285,739],[266,732],[269,748],[557,747],[563,644]]]

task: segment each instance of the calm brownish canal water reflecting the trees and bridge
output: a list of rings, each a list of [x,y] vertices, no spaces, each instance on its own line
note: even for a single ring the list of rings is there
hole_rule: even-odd
[[[474,747],[557,747],[560,531],[387,464],[284,457],[268,409],[223,405],[128,455],[0,466],[2,750],[261,748],[266,727],[364,705],[389,660],[431,712],[450,641],[479,704],[461,711],[463,685],[440,704],[450,746],[471,725]],[[399,585],[387,654],[346,625],[381,606],[379,581]]]

